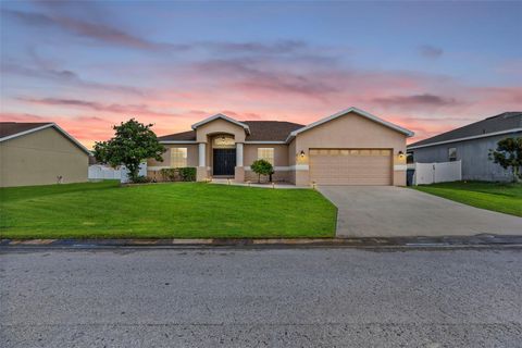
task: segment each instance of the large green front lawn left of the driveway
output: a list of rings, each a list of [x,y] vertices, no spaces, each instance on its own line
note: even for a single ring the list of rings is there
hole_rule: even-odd
[[[333,237],[336,208],[310,189],[117,182],[0,189],[1,238]]]

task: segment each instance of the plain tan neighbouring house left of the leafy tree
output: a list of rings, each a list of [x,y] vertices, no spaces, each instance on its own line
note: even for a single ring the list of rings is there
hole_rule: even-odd
[[[89,151],[54,123],[0,122],[0,187],[87,182]]]

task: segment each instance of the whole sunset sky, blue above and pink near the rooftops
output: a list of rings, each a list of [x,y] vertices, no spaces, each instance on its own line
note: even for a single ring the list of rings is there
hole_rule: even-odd
[[[1,119],[87,147],[357,107],[418,140],[522,110],[522,2],[1,2]]]

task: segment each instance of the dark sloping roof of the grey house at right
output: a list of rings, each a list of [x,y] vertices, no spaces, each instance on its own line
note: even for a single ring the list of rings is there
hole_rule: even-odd
[[[504,112],[501,114],[484,119],[467,126],[452,129],[434,137],[410,144],[408,148],[427,146],[437,142],[450,142],[461,138],[480,135],[494,134],[497,132],[509,132],[510,129],[522,128],[522,111]]]

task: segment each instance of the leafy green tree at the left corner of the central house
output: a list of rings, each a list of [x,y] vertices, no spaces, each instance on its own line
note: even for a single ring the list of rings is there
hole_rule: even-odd
[[[135,119],[113,126],[115,130],[113,138],[95,144],[96,160],[112,166],[124,164],[130,181],[136,182],[139,164],[151,158],[162,162],[161,154],[166,150],[158,142],[156,134],[150,129],[151,126],[152,124],[145,125]]]

